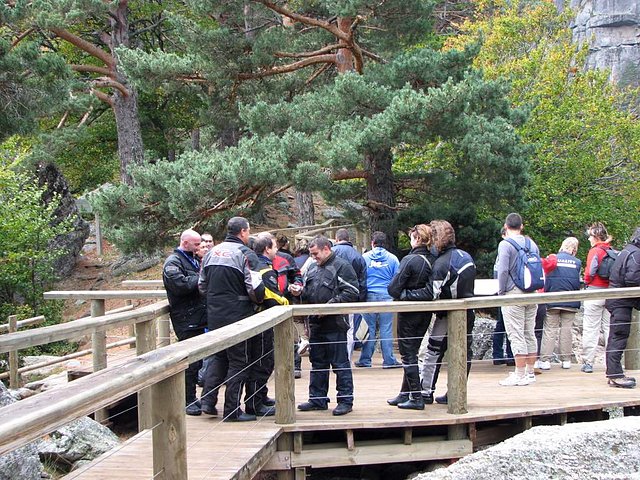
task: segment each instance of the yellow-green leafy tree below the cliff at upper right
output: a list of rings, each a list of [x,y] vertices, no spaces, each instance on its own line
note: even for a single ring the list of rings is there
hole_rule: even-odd
[[[535,149],[523,192],[527,232],[551,253],[599,220],[622,246],[640,223],[640,124],[625,111],[628,93],[611,85],[607,72],[583,68],[585,51],[572,45],[567,27],[571,12],[559,15],[544,1],[485,3],[468,35],[451,43],[483,38],[476,64],[488,77],[509,78],[512,101],[531,107],[519,129]]]

